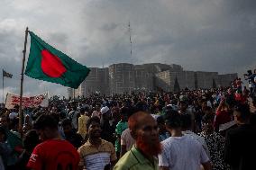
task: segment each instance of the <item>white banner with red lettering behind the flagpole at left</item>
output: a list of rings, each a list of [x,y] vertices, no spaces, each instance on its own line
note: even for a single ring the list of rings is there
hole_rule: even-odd
[[[6,94],[5,107],[7,109],[13,109],[15,105],[20,104],[20,95],[17,94]],[[48,93],[38,94],[30,97],[23,97],[23,108],[24,107],[48,107]]]

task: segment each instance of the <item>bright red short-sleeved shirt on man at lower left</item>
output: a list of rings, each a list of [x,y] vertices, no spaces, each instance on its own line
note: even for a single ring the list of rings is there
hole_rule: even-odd
[[[60,166],[62,169],[72,166],[72,169],[77,169],[78,163],[78,151],[67,140],[48,139],[33,149],[27,167],[52,170]]]

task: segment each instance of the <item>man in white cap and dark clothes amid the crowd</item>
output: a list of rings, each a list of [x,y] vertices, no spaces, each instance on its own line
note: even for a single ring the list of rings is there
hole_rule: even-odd
[[[109,120],[111,118],[111,111],[110,109],[105,106],[101,108],[101,120],[100,120],[100,127],[101,127],[101,139],[105,139],[106,141],[114,143],[114,131],[112,130]]]

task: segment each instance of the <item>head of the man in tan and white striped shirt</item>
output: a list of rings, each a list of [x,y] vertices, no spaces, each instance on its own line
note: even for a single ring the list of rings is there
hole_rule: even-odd
[[[87,121],[87,133],[90,139],[99,139],[101,137],[100,119],[96,116]]]

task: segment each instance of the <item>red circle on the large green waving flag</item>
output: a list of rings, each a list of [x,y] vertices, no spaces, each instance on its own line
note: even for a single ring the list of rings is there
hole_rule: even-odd
[[[53,78],[58,78],[67,71],[61,60],[47,49],[41,51],[41,70],[45,75]]]

